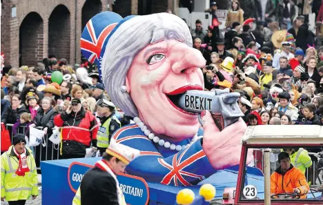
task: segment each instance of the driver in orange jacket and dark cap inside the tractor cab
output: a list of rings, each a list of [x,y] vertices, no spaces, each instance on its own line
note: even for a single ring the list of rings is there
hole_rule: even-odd
[[[271,175],[271,195],[284,193],[297,193],[301,199],[306,199],[309,193],[309,184],[305,175],[291,164],[288,153],[282,152],[278,155],[280,166]]]

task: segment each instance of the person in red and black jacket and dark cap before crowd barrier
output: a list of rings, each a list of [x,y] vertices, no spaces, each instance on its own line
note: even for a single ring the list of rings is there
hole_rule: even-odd
[[[71,106],[54,117],[54,124],[62,128],[62,159],[85,157],[86,148],[90,147],[91,141],[92,146],[97,146],[99,124],[90,111],[84,110],[80,99],[72,99]]]

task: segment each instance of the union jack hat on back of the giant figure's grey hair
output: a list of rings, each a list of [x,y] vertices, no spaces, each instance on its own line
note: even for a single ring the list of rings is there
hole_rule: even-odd
[[[104,54],[108,39],[110,39],[112,35],[112,30],[116,28],[121,20],[122,17],[115,12],[101,12],[96,14],[86,23],[86,27],[82,32],[81,52],[91,64],[96,64],[98,66],[100,79],[100,58]],[[103,52],[101,53],[101,51]]]

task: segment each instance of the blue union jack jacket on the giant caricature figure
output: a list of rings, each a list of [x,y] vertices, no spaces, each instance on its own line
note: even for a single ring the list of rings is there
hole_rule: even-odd
[[[135,124],[120,128],[112,138],[140,150],[140,157],[127,166],[126,172],[147,182],[190,186],[215,173],[202,148],[202,138],[179,152],[155,144]]]

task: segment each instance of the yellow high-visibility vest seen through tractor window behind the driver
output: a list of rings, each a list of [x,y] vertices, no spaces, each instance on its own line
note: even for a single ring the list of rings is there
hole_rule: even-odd
[[[291,164],[293,164],[295,168],[298,168],[303,174],[305,173],[306,168],[313,164],[311,157],[304,148],[300,148],[289,157],[291,157]]]

